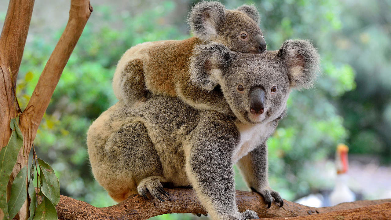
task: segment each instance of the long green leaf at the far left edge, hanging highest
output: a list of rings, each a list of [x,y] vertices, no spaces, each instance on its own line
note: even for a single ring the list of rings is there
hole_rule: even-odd
[[[11,119],[9,124],[12,129],[11,137],[7,146],[0,151],[0,208],[4,212],[4,219],[9,219],[6,199],[9,175],[12,173],[20,147],[23,145],[23,136],[18,123],[19,117]]]

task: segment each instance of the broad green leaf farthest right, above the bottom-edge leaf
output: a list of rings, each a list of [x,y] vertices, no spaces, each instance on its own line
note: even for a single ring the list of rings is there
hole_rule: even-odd
[[[53,168],[41,159],[37,159],[41,177],[41,191],[54,206],[60,201],[60,184]]]

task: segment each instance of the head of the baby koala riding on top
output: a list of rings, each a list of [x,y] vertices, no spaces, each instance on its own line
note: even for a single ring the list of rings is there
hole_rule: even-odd
[[[191,31],[202,40],[224,44],[242,53],[262,53],[266,42],[259,28],[260,16],[254,5],[227,10],[219,2],[200,2],[190,11]]]

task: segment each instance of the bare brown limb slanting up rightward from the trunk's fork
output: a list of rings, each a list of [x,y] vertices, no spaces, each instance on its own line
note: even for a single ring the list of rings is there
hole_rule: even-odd
[[[92,12],[90,0],[71,0],[69,20],[43,69],[26,109],[20,117],[25,152],[30,152],[38,126],[49,105],[63,69]]]

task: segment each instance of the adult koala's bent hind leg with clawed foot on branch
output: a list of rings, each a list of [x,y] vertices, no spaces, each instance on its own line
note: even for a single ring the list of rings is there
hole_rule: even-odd
[[[160,182],[167,181],[163,177],[160,157],[143,123],[122,126],[111,134],[105,148],[108,150],[104,163],[108,165],[98,174],[108,174],[105,179],[101,174],[96,175],[96,179],[115,201],[121,202],[140,192],[143,186],[158,198],[155,190],[160,191]]]

